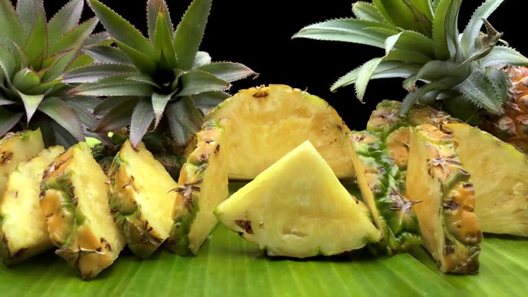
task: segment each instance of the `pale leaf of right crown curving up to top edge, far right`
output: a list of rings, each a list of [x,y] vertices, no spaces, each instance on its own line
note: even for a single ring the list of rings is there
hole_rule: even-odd
[[[461,46],[466,55],[474,52],[475,41],[481,33],[483,25],[482,19],[487,19],[504,0],[486,0],[482,5],[476,9],[472,15],[470,22],[467,23],[461,38]]]

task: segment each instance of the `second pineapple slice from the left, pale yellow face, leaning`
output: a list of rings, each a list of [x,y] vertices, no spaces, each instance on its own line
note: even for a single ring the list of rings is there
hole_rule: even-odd
[[[39,194],[44,170],[63,152],[62,146],[53,146],[11,171],[0,199],[0,256],[5,265],[53,247]]]

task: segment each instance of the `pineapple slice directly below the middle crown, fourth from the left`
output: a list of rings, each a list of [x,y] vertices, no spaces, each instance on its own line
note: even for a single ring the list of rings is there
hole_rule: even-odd
[[[124,142],[110,169],[110,207],[130,250],[151,256],[167,239],[178,185],[144,144]]]

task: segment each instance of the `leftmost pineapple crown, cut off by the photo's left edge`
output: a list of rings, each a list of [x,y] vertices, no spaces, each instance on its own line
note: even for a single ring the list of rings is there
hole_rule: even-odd
[[[49,21],[42,0],[19,0],[17,8],[0,0],[0,136],[15,126],[40,127],[46,144],[70,146],[85,140],[96,125],[90,109],[95,98],[68,98],[62,82],[68,69],[92,58],[80,52],[88,45],[111,42],[92,34],[92,18],[79,24],[83,0],[72,0]],[[24,116],[25,115],[25,116]]]

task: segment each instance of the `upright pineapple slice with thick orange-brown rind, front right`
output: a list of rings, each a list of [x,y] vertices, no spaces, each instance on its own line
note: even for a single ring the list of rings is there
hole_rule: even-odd
[[[449,135],[432,124],[413,128],[407,194],[422,199],[415,212],[423,245],[444,273],[475,274],[482,232],[473,210],[470,174],[462,167]]]

